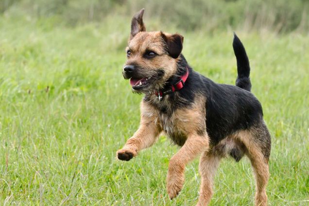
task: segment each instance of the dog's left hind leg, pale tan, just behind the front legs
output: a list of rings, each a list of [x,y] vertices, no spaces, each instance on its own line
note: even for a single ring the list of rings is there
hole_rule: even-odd
[[[212,196],[213,180],[219,166],[221,156],[214,153],[205,152],[201,155],[199,171],[201,174],[200,198],[197,206],[206,206],[209,204]]]

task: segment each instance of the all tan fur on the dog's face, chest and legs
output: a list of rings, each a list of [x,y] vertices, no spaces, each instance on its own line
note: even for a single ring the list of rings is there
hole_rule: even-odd
[[[167,42],[173,42],[175,38],[183,39],[179,34],[165,34],[162,32],[146,32],[142,22],[143,10],[132,19],[131,35],[127,50],[131,51],[128,64],[140,65],[143,72],[151,76],[157,68],[165,69],[165,76],[156,83],[161,86],[175,74],[177,58],[172,58],[165,50]],[[145,61],[142,58],[145,51],[155,51],[158,56],[153,60]],[[164,104],[164,100],[162,102]],[[172,199],[177,196],[185,181],[186,165],[201,155],[199,172],[202,177],[199,206],[205,206],[210,202],[212,195],[213,179],[220,159],[225,157],[231,148],[236,146],[243,154],[246,154],[252,163],[257,181],[256,206],[266,206],[266,185],[269,178],[268,159],[264,158],[257,142],[258,136],[263,135],[258,128],[238,131],[234,135],[224,138],[216,146],[211,147],[206,133],[206,98],[202,94],[196,94],[194,103],[190,107],[176,109],[170,116],[155,109],[149,102],[140,104],[140,125],[133,137],[117,152],[117,155],[136,156],[139,151],[150,147],[157,140],[161,132],[179,141],[183,145],[170,160],[167,175],[167,191]],[[166,103],[167,110],[169,105]]]

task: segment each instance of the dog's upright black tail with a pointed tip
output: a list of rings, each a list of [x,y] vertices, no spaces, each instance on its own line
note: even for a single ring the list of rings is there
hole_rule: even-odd
[[[237,59],[237,79],[236,86],[245,89],[247,91],[251,90],[251,82],[250,82],[250,65],[249,59],[244,49],[240,39],[234,32],[234,40],[233,40],[233,49]]]

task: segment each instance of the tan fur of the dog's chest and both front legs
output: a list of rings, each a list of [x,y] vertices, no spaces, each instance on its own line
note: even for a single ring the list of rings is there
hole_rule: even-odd
[[[163,130],[174,138],[187,137],[184,145],[172,156],[169,163],[167,189],[171,199],[182,189],[185,166],[209,147],[207,134],[201,134],[201,131],[206,130],[206,111],[203,104],[205,99],[199,97],[192,108],[176,110],[171,118],[165,118],[151,105],[142,102],[140,126],[133,137],[117,152],[117,155],[132,153],[136,156],[140,150],[150,147]]]

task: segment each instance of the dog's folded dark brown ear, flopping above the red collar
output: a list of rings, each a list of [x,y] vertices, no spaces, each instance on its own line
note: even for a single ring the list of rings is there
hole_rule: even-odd
[[[172,56],[174,59],[178,58],[182,51],[184,37],[180,34],[165,35],[161,33],[161,35],[166,42],[167,51],[169,52],[170,56]]]

